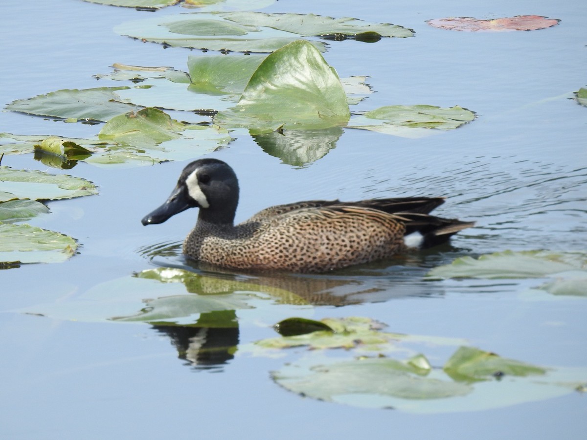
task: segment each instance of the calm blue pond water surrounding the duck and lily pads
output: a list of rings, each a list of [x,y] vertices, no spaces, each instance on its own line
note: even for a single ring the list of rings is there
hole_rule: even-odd
[[[157,13],[177,12],[184,9]],[[375,90],[353,111],[458,104],[478,115],[458,130],[418,140],[345,130],[336,148],[303,168],[282,164],[248,137],[213,154],[239,177],[237,221],[269,205],[301,199],[393,195],[445,196],[439,215],[477,221],[443,252],[324,276],[344,280],[335,293],[348,295],[349,304],[316,307],[313,317],[368,316],[389,324],[390,331],[464,338],[538,365],[585,367],[582,299],[528,300],[521,292],[537,280],[421,279],[430,267],[461,255],[585,250],[587,109],[569,99],[587,84],[587,5],[279,1],[264,12],[353,16],[416,31],[414,38],[330,44],[325,58],[339,75],[369,76]],[[443,31],[424,23],[444,16],[529,14],[561,23],[541,31],[494,34]],[[187,56],[198,53],[162,49],[112,32],[123,21],[153,16],[150,12],[77,0],[6,0],[0,16],[3,105],[58,89],[106,85],[92,75],[110,72],[114,62],[185,70]],[[4,112],[0,131],[87,137],[99,128]],[[2,165],[46,170],[31,155],[5,155]],[[50,215],[30,222],[73,236],[82,246],[66,263],[1,272],[2,438],[423,438],[430,432],[435,438],[581,438],[587,405],[578,392],[457,414],[357,409],[301,398],[272,383],[269,371],[281,368],[283,359],[237,352],[221,368],[202,371],[178,359],[169,337],[146,324],[11,312],[75,300],[101,282],[157,263],[181,264],[180,257],[150,261],[141,249],[180,242],[195,212],[149,228],[140,219],[167,197],[184,165],[108,170],[79,164],[68,172],[96,182],[100,194],[52,202]],[[270,325],[298,312],[283,306],[275,320],[241,320],[239,344],[274,336]]]

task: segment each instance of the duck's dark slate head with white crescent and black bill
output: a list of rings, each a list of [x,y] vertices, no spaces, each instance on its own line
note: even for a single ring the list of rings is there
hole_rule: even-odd
[[[167,201],[146,215],[143,225],[163,223],[188,208],[200,208],[200,219],[230,223],[238,204],[238,180],[228,164],[217,159],[200,159],[181,172]]]

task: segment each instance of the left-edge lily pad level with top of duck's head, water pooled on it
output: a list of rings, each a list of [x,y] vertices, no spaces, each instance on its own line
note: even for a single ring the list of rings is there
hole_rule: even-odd
[[[68,199],[97,193],[96,185],[79,177],[0,166],[0,202]]]

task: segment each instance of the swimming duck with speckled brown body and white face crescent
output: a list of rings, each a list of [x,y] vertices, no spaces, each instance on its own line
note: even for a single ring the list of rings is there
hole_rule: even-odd
[[[188,208],[197,223],[183,243],[188,259],[245,271],[329,272],[388,259],[413,246],[447,242],[474,222],[430,215],[443,197],[382,198],[356,202],[310,200],[276,205],[234,224],[237,175],[227,163],[203,158],[188,164],[170,197],[142,219],[161,224]]]

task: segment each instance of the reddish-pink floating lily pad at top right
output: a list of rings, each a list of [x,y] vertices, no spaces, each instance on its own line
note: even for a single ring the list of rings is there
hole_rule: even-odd
[[[510,32],[535,31],[558,25],[559,19],[539,15],[518,15],[515,17],[481,20],[471,17],[437,18],[426,21],[430,26],[451,31],[468,32]]]

